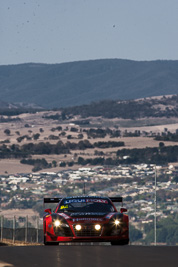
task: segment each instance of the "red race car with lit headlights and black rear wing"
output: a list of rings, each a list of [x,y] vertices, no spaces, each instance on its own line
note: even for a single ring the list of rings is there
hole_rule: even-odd
[[[44,245],[60,242],[110,242],[111,245],[129,243],[127,209],[117,211],[113,202],[122,197],[79,196],[44,198],[44,203],[58,203],[54,212],[45,209],[43,218]]]

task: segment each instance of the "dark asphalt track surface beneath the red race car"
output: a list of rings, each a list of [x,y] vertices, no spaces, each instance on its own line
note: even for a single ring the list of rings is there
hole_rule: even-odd
[[[175,267],[178,247],[24,246],[0,247],[0,267]]]

